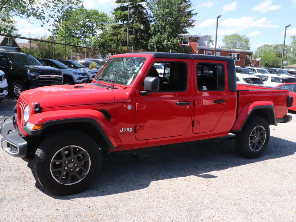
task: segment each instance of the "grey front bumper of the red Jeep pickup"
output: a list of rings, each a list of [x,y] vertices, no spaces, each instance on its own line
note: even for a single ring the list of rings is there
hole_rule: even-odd
[[[27,154],[27,141],[19,134],[17,118],[15,115],[5,119],[0,125],[1,147],[14,157],[25,157]]]

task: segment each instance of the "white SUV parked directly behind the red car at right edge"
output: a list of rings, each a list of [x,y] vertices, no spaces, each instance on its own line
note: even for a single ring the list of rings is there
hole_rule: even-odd
[[[264,82],[266,86],[277,86],[282,83],[293,83],[296,82],[296,78],[288,75],[279,75],[279,74],[260,74],[255,75]]]

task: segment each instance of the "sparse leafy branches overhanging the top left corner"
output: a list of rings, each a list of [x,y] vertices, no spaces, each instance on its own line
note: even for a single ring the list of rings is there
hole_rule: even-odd
[[[0,0],[0,12],[8,13],[8,18],[35,18],[43,22],[56,19],[69,8],[80,5],[81,0]],[[45,17],[47,15],[47,17]]]

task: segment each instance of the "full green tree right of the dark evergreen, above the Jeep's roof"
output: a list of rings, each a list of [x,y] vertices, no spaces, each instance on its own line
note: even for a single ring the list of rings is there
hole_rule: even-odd
[[[148,48],[152,51],[182,52],[181,34],[194,26],[192,3],[187,0],[150,0],[153,23]]]

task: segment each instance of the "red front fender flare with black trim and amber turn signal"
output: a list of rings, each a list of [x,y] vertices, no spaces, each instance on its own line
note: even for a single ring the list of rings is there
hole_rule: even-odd
[[[28,122],[34,125],[42,125],[39,130],[31,130],[25,124],[23,131],[31,136],[41,134],[49,125],[89,122],[99,130],[110,149],[116,149],[122,145],[120,138],[108,119],[103,113],[94,109],[57,110],[35,113],[29,117]]]

